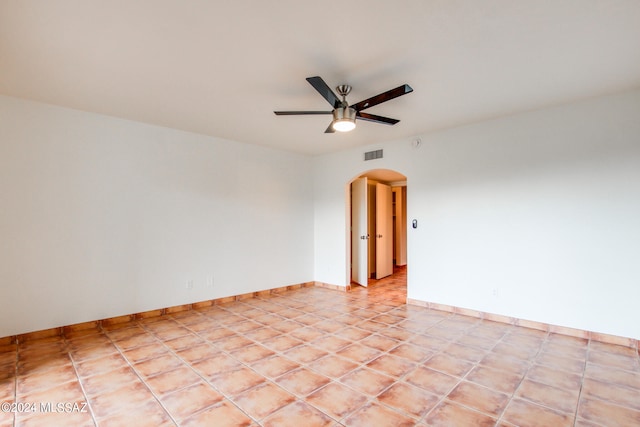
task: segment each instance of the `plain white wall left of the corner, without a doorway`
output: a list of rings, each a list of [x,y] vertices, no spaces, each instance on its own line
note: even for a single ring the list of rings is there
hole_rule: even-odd
[[[310,169],[0,97],[0,337],[312,281]]]

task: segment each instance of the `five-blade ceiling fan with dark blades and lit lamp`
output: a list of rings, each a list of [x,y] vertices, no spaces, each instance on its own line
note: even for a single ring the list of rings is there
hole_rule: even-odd
[[[388,90],[371,98],[360,101],[356,104],[349,105],[347,103],[347,95],[351,92],[351,86],[340,85],[336,87],[336,91],[342,100],[340,100],[329,86],[322,80],[322,77],[307,77],[307,81],[315,90],[326,99],[333,107],[331,111],[274,111],[277,116],[298,116],[310,114],[333,114],[331,124],[325,130],[325,133],[348,132],[356,127],[356,118],[366,120],[368,122],[381,123],[385,125],[395,125],[400,120],[390,119],[388,117],[377,116],[375,114],[363,113],[363,110],[371,108],[374,105],[382,104],[407,93],[413,92],[411,86],[404,84],[395,89]]]

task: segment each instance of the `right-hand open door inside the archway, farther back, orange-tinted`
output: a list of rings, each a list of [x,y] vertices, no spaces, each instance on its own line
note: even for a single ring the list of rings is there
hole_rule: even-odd
[[[393,274],[393,199],[391,186],[376,184],[376,279]]]

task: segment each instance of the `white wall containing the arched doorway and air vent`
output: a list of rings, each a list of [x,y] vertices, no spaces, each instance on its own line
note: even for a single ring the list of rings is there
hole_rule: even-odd
[[[393,169],[409,298],[640,338],[640,91],[420,137],[314,159],[316,280],[348,283],[346,183]]]

